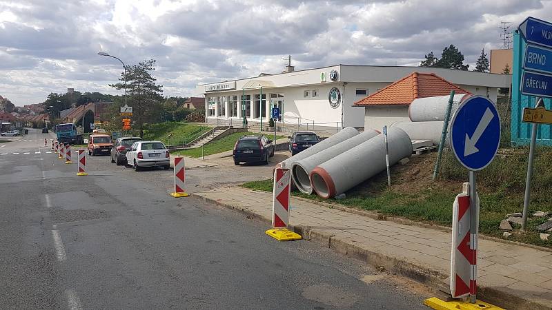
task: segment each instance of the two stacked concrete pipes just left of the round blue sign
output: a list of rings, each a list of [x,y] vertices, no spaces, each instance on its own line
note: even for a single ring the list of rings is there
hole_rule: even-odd
[[[454,114],[460,102],[469,96],[471,94],[454,96],[451,115]],[[449,96],[415,99],[408,107],[408,117],[411,121],[393,123],[391,127],[404,130],[411,140],[431,140],[434,145],[439,145],[448,104]]]

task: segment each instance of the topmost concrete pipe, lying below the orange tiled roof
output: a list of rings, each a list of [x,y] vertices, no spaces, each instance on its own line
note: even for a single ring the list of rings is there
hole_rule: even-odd
[[[471,94],[456,94],[453,99],[451,115],[454,114],[460,101]],[[436,96],[414,99],[408,107],[408,117],[413,122],[444,121],[446,107],[449,105],[450,96]]]

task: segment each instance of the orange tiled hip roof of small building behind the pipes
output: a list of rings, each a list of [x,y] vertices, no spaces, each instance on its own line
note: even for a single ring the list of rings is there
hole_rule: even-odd
[[[450,94],[451,90],[455,90],[456,94],[469,94],[466,90],[462,90],[434,73],[413,72],[355,102],[355,105],[410,105],[414,99],[445,96]]]

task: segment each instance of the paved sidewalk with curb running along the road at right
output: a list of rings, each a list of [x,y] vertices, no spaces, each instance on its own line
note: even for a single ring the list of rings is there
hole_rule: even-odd
[[[193,195],[270,223],[272,193],[223,187]],[[449,287],[450,233],[301,198],[292,197],[290,205],[290,224],[305,239],[431,287]],[[480,238],[477,254],[478,298],[507,309],[552,309],[552,251]]]

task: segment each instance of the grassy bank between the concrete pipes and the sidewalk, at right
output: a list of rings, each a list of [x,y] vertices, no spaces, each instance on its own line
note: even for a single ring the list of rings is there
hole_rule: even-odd
[[[480,233],[497,238],[503,238],[503,231],[499,226],[504,216],[521,212],[523,209],[527,149],[506,150],[510,154],[497,156],[489,167],[477,173]],[[432,183],[431,173],[435,157],[435,154],[415,156],[406,165],[393,166],[391,189],[386,186],[386,173],[383,172],[350,189],[344,199],[323,200],[316,195],[308,196],[300,192],[293,192],[292,195],[450,227],[453,201],[455,196],[460,194],[462,183],[467,182],[468,172],[460,167],[453,155],[448,152],[444,154],[440,180]],[[549,185],[552,183],[551,162],[552,149],[540,148],[535,156],[527,232],[522,234],[519,231],[520,225],[512,225],[513,236],[507,238],[508,240],[552,247],[552,240],[540,240],[535,229],[550,216],[531,217],[534,211],[552,210],[552,191],[549,191]],[[249,182],[242,186],[272,192],[273,180]]]

